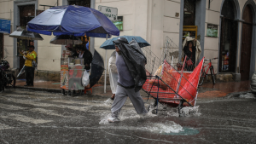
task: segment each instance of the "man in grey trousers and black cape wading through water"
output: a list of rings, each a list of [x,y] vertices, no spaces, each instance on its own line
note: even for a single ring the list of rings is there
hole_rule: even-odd
[[[110,123],[119,121],[119,112],[124,106],[127,96],[138,114],[147,113],[139,92],[146,81],[146,57],[137,48],[131,47],[125,37],[119,37],[113,43],[115,43],[119,79],[111,108],[112,117],[108,118]]]

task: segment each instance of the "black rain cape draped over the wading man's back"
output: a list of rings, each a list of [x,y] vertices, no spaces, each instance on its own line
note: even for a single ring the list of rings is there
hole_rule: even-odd
[[[143,84],[147,79],[145,65],[146,57],[143,55],[138,44],[119,43],[118,47],[125,60],[125,64],[131,72],[131,77],[135,81],[135,91],[142,89]]]

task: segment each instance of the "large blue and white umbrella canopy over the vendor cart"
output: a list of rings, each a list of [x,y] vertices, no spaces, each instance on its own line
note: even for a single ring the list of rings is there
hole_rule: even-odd
[[[27,30],[45,35],[69,35],[88,37],[119,36],[119,29],[107,16],[78,5],[53,7],[45,10],[27,23]]]

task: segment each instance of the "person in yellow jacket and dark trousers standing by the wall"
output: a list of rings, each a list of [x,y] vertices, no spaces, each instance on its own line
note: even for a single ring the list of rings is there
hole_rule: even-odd
[[[35,47],[30,45],[28,46],[28,51],[24,56],[25,60],[25,72],[26,72],[26,85],[24,86],[33,86],[34,83],[34,71],[35,68],[32,66],[32,61],[36,61],[37,53],[34,51]]]

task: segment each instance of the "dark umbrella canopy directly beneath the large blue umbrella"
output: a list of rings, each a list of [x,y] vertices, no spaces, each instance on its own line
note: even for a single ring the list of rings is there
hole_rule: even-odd
[[[53,37],[49,43],[67,45],[67,43],[80,44],[83,43],[79,37],[70,35],[61,35]]]

